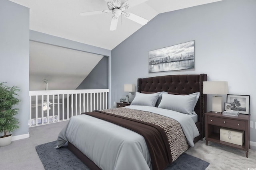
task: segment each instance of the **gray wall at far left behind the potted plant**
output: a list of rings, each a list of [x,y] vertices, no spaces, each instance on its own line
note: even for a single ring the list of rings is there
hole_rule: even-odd
[[[0,82],[21,90],[20,128],[12,135],[28,134],[29,9],[8,0],[0,1],[0,64]]]

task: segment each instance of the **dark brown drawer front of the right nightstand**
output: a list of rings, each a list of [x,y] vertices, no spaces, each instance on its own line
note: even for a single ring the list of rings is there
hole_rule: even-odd
[[[245,130],[245,121],[208,116],[208,124]]]

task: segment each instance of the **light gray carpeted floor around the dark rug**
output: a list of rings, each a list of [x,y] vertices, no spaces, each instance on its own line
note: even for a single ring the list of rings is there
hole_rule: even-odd
[[[0,147],[0,170],[44,170],[35,147],[56,141],[58,133],[68,123],[62,121],[37,127],[30,127],[30,137],[12,141],[11,145]],[[249,149],[248,158],[244,150],[203,141],[195,143],[185,153],[200,158],[210,165],[206,170],[248,170],[256,169],[256,147]],[[52,149],[54,151],[54,149]]]

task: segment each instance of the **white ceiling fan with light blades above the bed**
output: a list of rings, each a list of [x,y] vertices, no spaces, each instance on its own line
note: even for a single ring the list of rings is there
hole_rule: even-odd
[[[122,3],[121,0],[112,0],[112,1],[107,2],[109,10],[82,12],[79,14],[81,16],[90,16],[90,15],[95,15],[95,14],[107,14],[109,12],[112,12],[113,16],[112,16],[112,20],[110,23],[110,31],[116,30],[118,18],[121,14],[123,14],[125,18],[135,21],[141,25],[145,25],[146,23],[148,23],[148,20],[146,20],[140,16],[137,16],[130,12],[125,12],[125,10],[129,8],[129,4],[126,3],[127,1],[128,0],[126,0],[125,2]],[[140,3],[145,2],[145,1],[147,1],[147,0],[141,0]]]

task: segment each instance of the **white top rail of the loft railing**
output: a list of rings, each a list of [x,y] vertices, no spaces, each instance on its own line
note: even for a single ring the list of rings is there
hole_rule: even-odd
[[[80,94],[80,93],[103,93],[109,89],[81,89],[81,90],[33,90],[29,91],[29,96],[52,95],[52,94]]]

